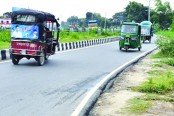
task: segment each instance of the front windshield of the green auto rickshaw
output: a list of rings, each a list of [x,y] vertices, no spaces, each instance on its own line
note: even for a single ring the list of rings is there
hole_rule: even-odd
[[[122,25],[121,32],[122,33],[136,33],[137,26],[136,25]]]

